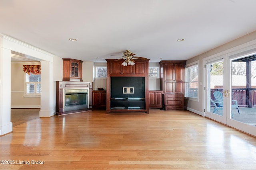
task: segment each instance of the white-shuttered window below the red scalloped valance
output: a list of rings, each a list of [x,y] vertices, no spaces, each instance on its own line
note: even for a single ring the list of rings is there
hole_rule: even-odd
[[[41,74],[34,75],[26,73],[26,96],[40,96],[41,95]]]

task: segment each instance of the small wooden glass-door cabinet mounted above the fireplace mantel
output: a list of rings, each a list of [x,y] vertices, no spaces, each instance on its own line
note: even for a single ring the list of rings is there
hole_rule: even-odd
[[[76,59],[63,60],[63,78],[62,81],[82,82],[82,63]]]

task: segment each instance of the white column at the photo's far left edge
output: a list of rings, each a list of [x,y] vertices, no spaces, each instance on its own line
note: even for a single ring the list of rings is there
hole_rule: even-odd
[[[0,135],[12,132],[11,51],[3,48],[0,37]]]

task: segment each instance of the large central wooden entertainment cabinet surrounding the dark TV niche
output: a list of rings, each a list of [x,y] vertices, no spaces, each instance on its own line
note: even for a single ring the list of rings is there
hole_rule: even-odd
[[[106,112],[107,113],[109,112],[149,113],[148,61],[150,59],[146,59],[146,60],[136,59],[135,64],[133,66],[132,65],[123,66],[122,62],[124,60],[120,60],[120,61],[115,61],[115,60],[116,59],[106,59],[107,61]],[[139,100],[134,98],[122,98],[122,99],[111,98],[110,97],[111,77],[144,77],[145,78],[144,98],[140,98]],[[113,105],[113,107],[111,107],[110,105]]]

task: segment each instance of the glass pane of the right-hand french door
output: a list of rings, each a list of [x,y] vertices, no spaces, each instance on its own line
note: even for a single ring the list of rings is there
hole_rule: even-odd
[[[232,120],[256,126],[256,61],[244,57],[231,62]]]

